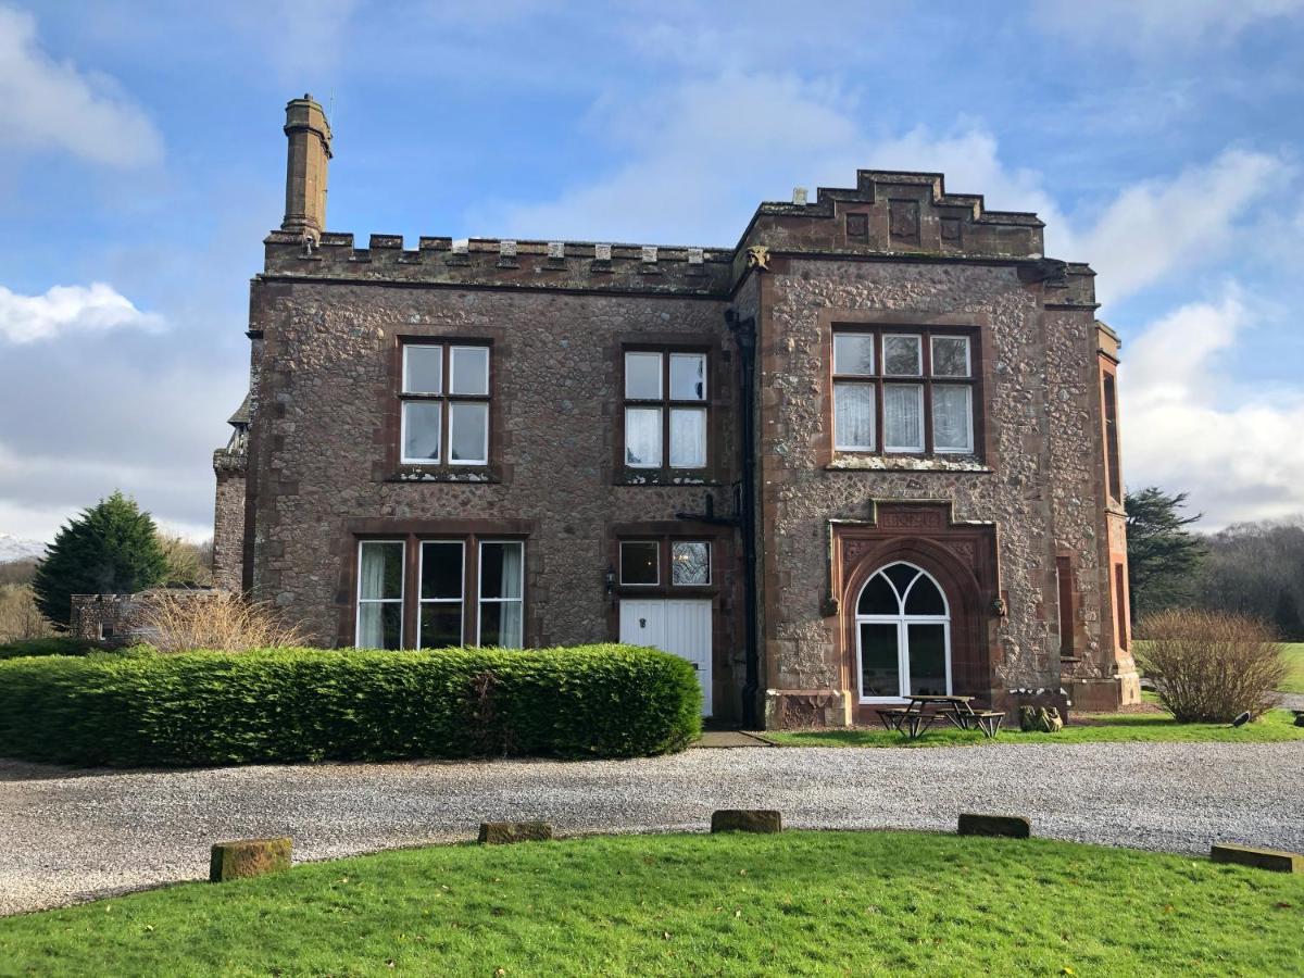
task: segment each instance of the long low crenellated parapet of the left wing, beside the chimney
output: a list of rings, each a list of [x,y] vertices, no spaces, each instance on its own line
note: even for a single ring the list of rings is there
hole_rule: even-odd
[[[686,245],[592,241],[323,233],[313,241],[274,231],[265,241],[265,275],[335,280],[420,282],[515,288],[720,295],[730,286],[733,250]]]

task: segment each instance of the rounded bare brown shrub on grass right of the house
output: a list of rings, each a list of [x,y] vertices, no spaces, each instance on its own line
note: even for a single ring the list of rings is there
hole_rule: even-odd
[[[1258,716],[1286,678],[1283,648],[1260,621],[1174,609],[1141,622],[1137,660],[1159,700],[1183,722],[1231,722]]]

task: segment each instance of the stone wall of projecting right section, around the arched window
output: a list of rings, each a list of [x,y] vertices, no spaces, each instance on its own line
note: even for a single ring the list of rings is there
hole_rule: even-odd
[[[1052,293],[1081,306],[1047,316],[1047,286],[1013,266],[854,262],[789,256],[762,282],[765,648],[772,689],[841,691],[838,621],[823,606],[829,520],[867,520],[875,499],[945,499],[960,523],[994,523],[999,597],[990,687],[1059,687],[1056,545],[1082,567],[1078,609],[1101,660],[1095,509],[1094,322],[1082,283]],[[1065,301],[1072,300],[1072,301]],[[1085,301],[1084,301],[1085,300]],[[1043,318],[1045,317],[1045,318]],[[1050,326],[1046,318],[1051,319]],[[968,322],[981,327],[987,451],[948,460],[842,459],[831,449],[825,344],[835,322]],[[1048,335],[1047,330],[1052,333]],[[870,467],[859,467],[862,464]],[[992,596],[995,597],[995,596]]]

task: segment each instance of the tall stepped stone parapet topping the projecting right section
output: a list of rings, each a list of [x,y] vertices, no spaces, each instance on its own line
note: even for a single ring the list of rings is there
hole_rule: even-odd
[[[762,203],[739,252],[835,252],[1021,261],[1043,257],[1035,214],[995,211],[981,194],[947,193],[941,173],[858,170],[854,188],[820,188],[814,202]]]

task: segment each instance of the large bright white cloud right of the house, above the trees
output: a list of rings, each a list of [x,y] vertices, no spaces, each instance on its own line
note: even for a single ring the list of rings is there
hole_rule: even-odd
[[[1151,323],[1120,368],[1129,484],[1189,492],[1206,528],[1304,511],[1304,393],[1247,390],[1224,366],[1254,318],[1227,287]]]

